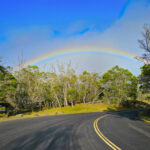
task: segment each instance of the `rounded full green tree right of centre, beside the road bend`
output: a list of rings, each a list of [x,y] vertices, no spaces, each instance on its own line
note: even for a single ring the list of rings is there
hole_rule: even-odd
[[[137,78],[127,69],[115,66],[104,73],[101,82],[104,88],[103,99],[108,103],[121,103],[136,98]]]

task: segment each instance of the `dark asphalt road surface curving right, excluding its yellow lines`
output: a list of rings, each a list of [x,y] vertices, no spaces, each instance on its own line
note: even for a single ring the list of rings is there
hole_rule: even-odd
[[[97,130],[105,139],[93,124],[101,116]],[[150,125],[140,121],[136,111],[0,122],[0,150],[111,150],[108,139],[123,150],[150,150]]]

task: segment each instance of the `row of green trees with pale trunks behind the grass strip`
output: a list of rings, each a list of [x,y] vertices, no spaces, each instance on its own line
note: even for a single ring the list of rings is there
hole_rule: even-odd
[[[14,112],[74,106],[76,103],[120,103],[137,97],[137,78],[118,66],[103,75],[87,71],[76,74],[68,64],[58,71],[41,72],[28,66],[11,73],[0,66],[0,101]]]

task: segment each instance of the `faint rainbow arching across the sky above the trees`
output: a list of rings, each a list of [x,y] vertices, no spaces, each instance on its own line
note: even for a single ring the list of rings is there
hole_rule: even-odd
[[[120,57],[122,59],[127,59],[130,61],[134,61],[135,63],[138,63],[138,61],[135,59],[135,54],[124,52],[117,49],[111,49],[111,48],[105,48],[105,47],[74,47],[74,48],[64,48],[64,49],[58,49],[53,50],[45,53],[44,55],[41,55],[39,57],[36,57],[30,61],[28,61],[25,65],[38,65],[39,63],[42,63],[47,60],[52,60],[56,58],[60,58],[63,56],[69,56],[69,55],[75,55],[75,54],[106,54],[106,55],[112,55],[116,57]]]

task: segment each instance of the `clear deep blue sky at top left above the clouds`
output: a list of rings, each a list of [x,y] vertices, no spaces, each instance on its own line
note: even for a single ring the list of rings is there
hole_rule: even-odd
[[[76,22],[103,31],[125,11],[127,0],[1,0],[1,39],[11,30],[33,26],[49,26],[53,34],[64,33]],[[79,34],[83,33],[82,31]]]

